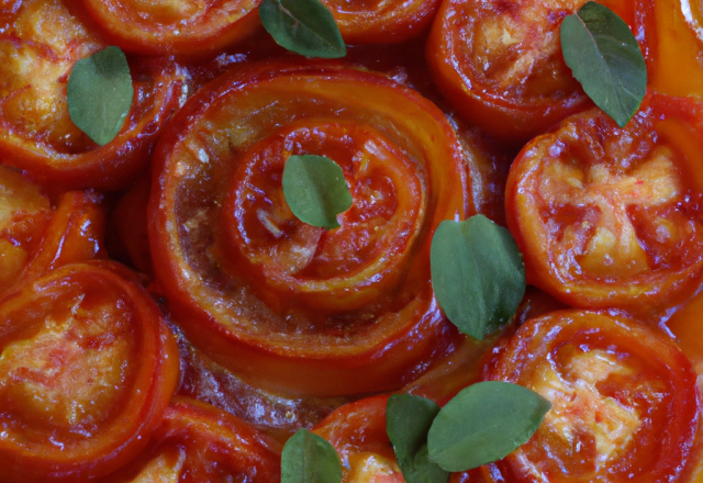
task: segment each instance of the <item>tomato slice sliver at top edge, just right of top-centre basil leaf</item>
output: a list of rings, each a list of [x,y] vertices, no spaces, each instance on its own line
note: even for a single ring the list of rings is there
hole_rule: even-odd
[[[322,0],[347,44],[392,44],[421,35],[440,0]]]

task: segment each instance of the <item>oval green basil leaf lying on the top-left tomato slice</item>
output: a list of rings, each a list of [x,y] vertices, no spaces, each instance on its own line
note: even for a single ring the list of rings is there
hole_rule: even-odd
[[[130,66],[119,47],[108,47],[76,63],[68,77],[70,120],[99,145],[118,135],[132,108]]]

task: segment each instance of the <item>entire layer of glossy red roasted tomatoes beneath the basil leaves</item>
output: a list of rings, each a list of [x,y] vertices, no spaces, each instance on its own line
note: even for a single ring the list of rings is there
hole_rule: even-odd
[[[674,38],[668,0],[610,4],[652,79],[618,127],[560,54],[583,2],[325,0],[379,44],[333,61],[276,46],[258,3],[0,5],[0,481],[277,482],[308,427],[345,482],[402,482],[389,394],[478,381],[553,408],[453,482],[696,481],[703,76],[662,71],[701,55],[701,12]],[[66,83],[109,45],[135,97],[98,146]],[[309,154],[342,168],[339,228],[286,202]],[[439,223],[479,213],[534,285],[483,341],[429,277]]]

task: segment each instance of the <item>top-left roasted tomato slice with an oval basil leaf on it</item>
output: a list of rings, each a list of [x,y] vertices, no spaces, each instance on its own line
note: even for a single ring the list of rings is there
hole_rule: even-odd
[[[98,146],[71,122],[66,85],[77,60],[107,45],[59,0],[15,7],[0,7],[7,23],[0,33],[3,162],[52,191],[127,186],[148,164],[156,135],[178,104],[177,67],[165,59],[131,60],[134,103],[120,134]]]

